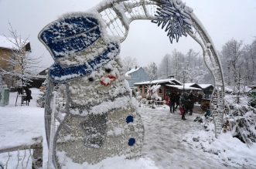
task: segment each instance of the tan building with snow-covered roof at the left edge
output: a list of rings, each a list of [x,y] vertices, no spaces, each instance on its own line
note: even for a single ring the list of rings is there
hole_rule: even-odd
[[[19,49],[22,47],[22,49]],[[0,73],[11,72],[12,69],[20,69],[19,66],[10,66],[10,58],[16,51],[30,51],[29,41],[13,39],[0,35]],[[24,55],[25,56],[25,55]],[[16,79],[10,75],[2,75],[2,80],[8,87],[16,87]]]

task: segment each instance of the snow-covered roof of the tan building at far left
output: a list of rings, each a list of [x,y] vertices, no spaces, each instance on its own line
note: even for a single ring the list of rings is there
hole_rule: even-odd
[[[25,42],[25,40],[20,39],[20,44],[21,45],[25,44],[25,46],[26,46],[28,43],[29,43],[29,41]],[[12,49],[12,50],[17,50],[18,49],[18,47],[15,46],[15,39],[5,37],[5,36],[2,36],[2,35],[0,35],[0,48]],[[30,47],[29,47],[29,49],[30,49]]]

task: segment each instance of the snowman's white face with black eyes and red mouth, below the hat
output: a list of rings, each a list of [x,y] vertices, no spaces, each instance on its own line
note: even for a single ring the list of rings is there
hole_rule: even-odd
[[[67,83],[70,106],[80,106],[84,110],[127,94],[129,88],[124,80],[121,62],[117,57],[89,76]]]

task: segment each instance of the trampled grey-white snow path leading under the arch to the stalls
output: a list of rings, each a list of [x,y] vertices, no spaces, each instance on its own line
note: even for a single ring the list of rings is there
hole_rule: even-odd
[[[145,124],[145,140],[142,155],[155,161],[159,168],[234,168],[225,167],[213,154],[203,153],[188,147],[183,136],[202,130],[200,123],[193,120],[199,114],[193,113],[181,120],[176,111],[166,109],[139,108]],[[216,155],[215,155],[216,156]]]

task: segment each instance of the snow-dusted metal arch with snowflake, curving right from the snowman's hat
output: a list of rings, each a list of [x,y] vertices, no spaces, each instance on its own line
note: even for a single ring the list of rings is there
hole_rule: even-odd
[[[109,35],[125,41],[129,24],[138,19],[148,19],[165,29],[172,42],[182,35],[190,35],[203,50],[203,59],[213,75],[214,90],[211,98],[211,112],[215,123],[215,135],[220,134],[224,116],[224,75],[217,49],[207,30],[180,0],[112,0],[102,2],[94,8],[103,19]]]

